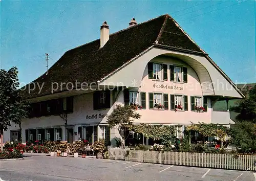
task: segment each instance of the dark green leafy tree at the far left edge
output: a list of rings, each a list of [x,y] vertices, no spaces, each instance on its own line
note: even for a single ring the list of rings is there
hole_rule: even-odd
[[[19,96],[18,71],[12,67],[9,71],[0,70],[0,131],[1,143],[3,143],[4,130],[15,124],[21,123],[21,119],[28,114],[26,102],[22,102]],[[1,144],[3,150],[3,144]]]

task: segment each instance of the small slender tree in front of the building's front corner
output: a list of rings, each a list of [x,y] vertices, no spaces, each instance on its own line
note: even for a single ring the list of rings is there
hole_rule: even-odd
[[[108,117],[107,123],[111,128],[116,127],[121,136],[122,147],[125,147],[125,140],[128,135],[125,135],[133,125],[135,119],[140,119],[140,115],[130,105],[122,106],[117,105],[110,116]]]

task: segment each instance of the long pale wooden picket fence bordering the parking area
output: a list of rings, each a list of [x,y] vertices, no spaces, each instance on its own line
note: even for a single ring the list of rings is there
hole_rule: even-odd
[[[131,162],[256,171],[256,155],[239,155],[239,157],[236,157],[233,154],[158,152],[110,148],[109,157],[113,160]]]

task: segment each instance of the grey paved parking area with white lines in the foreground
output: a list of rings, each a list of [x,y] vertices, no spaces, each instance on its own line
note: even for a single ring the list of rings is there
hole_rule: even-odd
[[[256,173],[80,157],[0,161],[2,180],[256,180]],[[0,179],[0,181],[1,181]]]

